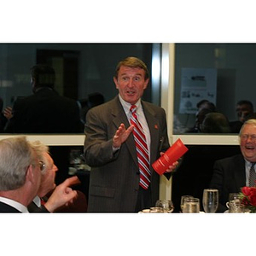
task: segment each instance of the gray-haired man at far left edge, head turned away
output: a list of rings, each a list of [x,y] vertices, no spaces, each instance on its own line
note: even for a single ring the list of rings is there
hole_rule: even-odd
[[[28,212],[41,180],[38,156],[26,137],[0,141],[0,212]]]

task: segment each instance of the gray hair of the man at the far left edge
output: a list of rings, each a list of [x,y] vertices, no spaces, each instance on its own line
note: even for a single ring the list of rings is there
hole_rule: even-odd
[[[0,141],[0,190],[19,189],[26,182],[26,171],[36,165],[35,153],[26,137]]]

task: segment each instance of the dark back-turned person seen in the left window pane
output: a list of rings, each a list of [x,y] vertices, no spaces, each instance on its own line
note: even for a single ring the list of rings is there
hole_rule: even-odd
[[[31,69],[31,96],[18,97],[11,109],[5,109],[9,133],[83,132],[79,104],[54,89],[55,70],[46,65]],[[10,110],[11,109],[11,110]],[[11,113],[10,113],[11,111]]]

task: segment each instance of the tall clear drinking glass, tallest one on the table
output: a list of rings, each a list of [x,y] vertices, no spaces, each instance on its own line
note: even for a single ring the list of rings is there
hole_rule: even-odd
[[[216,212],[218,208],[218,189],[204,189],[202,203],[205,212]]]

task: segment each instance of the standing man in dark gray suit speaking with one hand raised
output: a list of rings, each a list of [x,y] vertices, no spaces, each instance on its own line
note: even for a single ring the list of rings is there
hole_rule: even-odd
[[[110,102],[91,108],[86,115],[84,159],[92,167],[88,212],[138,212],[154,206],[159,199],[160,177],[151,164],[160,151],[169,148],[166,113],[163,108],[141,100],[148,86],[148,68],[136,57],[120,61],[113,82],[119,95]],[[137,147],[131,124],[131,106],[146,137],[149,184],[139,168]],[[162,153],[163,154],[163,153]],[[177,166],[169,166],[170,177]]]

